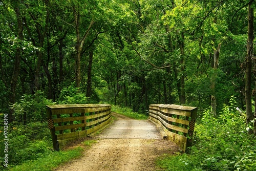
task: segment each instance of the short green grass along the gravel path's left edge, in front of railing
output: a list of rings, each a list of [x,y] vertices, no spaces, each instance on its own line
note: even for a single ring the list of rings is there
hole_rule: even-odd
[[[21,165],[17,165],[10,170],[12,171],[49,171],[56,168],[62,163],[68,162],[72,159],[78,158],[82,155],[83,148],[77,147],[68,151],[51,152],[43,157],[40,157],[33,161],[24,162]]]

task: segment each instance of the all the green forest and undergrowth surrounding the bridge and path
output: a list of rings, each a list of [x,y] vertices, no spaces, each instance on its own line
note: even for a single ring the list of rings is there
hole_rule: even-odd
[[[197,107],[189,154],[165,156],[159,167],[256,170],[255,7],[254,0],[0,0],[0,170],[79,156],[80,148],[52,151],[46,116],[47,104],[78,103],[144,116],[150,104]]]

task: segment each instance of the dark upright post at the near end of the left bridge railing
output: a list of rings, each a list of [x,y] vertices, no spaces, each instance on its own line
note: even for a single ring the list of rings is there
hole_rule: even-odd
[[[48,127],[50,129],[51,137],[52,137],[53,149],[55,151],[59,151],[59,144],[58,144],[58,141],[57,141],[57,135],[55,135],[55,127],[54,127],[54,124],[53,124],[51,109],[46,108],[46,113],[47,113],[47,119],[48,119]]]

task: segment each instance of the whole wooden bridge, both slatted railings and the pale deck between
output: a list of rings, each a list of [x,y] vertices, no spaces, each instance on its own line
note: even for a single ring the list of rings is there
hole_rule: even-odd
[[[53,148],[59,151],[69,141],[90,136],[108,125],[111,121],[111,105],[47,105],[47,114]],[[175,142],[185,152],[191,145],[197,108],[174,104],[151,104],[149,115],[149,120],[157,126],[145,121],[121,121],[121,124],[117,124],[119,126],[114,125],[99,138],[164,138]],[[127,124],[130,124],[130,129],[124,126]]]

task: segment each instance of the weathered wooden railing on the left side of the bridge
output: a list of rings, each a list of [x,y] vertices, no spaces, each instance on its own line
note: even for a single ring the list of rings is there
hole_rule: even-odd
[[[111,120],[110,104],[56,104],[47,105],[46,111],[55,151],[98,131]]]

